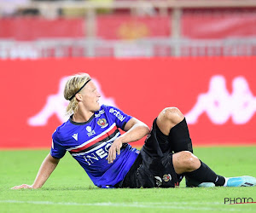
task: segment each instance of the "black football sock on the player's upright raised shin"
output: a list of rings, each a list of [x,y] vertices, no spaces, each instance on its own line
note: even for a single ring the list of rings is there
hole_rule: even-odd
[[[192,141],[189,137],[189,128],[185,118],[183,118],[183,121],[172,127],[168,136],[168,141],[170,141],[174,153],[181,151],[189,151],[193,153]]]

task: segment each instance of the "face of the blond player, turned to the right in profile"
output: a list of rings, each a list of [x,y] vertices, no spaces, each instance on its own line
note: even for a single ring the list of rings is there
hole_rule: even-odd
[[[96,112],[101,108],[99,103],[101,95],[97,91],[96,85],[92,81],[85,85],[80,94],[82,95],[82,101],[86,110]]]

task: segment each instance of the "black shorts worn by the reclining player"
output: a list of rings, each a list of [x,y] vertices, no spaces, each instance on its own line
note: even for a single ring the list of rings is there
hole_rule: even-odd
[[[172,147],[168,136],[156,124],[156,118],[148,137],[125,179],[115,187],[176,187],[183,176],[177,175],[172,164]]]

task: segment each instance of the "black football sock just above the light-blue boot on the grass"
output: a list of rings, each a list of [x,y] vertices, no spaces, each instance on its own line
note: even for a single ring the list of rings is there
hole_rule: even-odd
[[[216,186],[224,186],[225,178],[224,176],[218,176],[214,171],[212,171],[207,164],[201,162],[201,166],[194,171],[184,173],[185,176],[201,182],[213,182]]]

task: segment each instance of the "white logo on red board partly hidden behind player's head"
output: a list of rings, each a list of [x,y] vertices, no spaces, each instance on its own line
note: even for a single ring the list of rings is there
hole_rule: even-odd
[[[52,116],[56,116],[61,123],[67,121],[66,114],[66,108],[68,105],[68,101],[64,99],[63,97],[63,91],[65,88],[65,84],[67,82],[68,77],[63,77],[60,80],[59,83],[59,90],[56,94],[49,95],[47,97],[47,100],[45,101],[44,106],[41,106],[39,108],[42,108],[41,111],[39,111],[37,114],[32,116],[31,118],[28,118],[27,124],[30,126],[45,126],[48,123],[49,118]],[[109,106],[118,107],[115,104],[115,101],[112,97],[106,97],[101,89],[101,84],[97,82],[95,78],[92,78],[92,81],[96,84],[96,88],[98,89],[99,93],[101,94],[100,103],[104,103]],[[38,109],[39,109],[38,108]],[[102,112],[99,113],[99,115]]]

